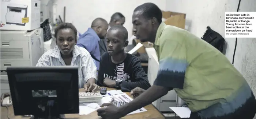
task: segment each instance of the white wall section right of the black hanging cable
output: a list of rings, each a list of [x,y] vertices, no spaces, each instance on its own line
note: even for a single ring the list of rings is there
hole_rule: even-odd
[[[240,9],[241,12],[256,12],[256,0],[241,0]],[[256,96],[256,38],[237,39],[234,66],[245,77]]]

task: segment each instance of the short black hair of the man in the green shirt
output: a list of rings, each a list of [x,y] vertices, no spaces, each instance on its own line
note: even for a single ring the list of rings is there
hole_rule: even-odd
[[[155,17],[159,23],[162,23],[162,11],[154,3],[144,3],[142,5],[139,5],[134,9],[133,12],[136,11],[142,11],[142,15],[146,19],[153,19]]]

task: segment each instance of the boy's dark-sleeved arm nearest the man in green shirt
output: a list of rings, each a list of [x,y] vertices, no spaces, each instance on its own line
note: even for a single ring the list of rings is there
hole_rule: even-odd
[[[147,90],[151,85],[148,82],[147,74],[144,72],[140,60],[136,57],[131,61],[134,80],[132,82],[122,82],[121,89],[123,92],[130,92],[136,87]]]

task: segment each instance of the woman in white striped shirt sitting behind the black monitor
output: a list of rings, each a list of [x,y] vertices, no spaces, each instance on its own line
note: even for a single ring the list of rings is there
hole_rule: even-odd
[[[97,86],[97,71],[88,51],[76,46],[77,30],[71,23],[62,23],[54,29],[57,46],[45,52],[37,67],[47,66],[78,66],[79,88],[95,92]],[[84,84],[85,83],[85,84]]]

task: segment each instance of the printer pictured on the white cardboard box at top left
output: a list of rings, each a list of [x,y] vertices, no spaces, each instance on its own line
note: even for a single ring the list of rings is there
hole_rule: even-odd
[[[6,24],[25,26],[22,18],[27,17],[27,5],[10,3],[7,5]]]

